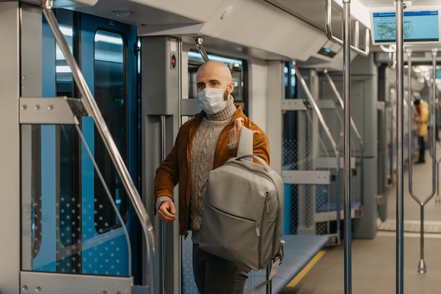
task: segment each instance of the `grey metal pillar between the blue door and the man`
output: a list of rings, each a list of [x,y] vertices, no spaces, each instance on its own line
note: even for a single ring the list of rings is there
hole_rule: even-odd
[[[142,72],[142,198],[154,215],[154,177],[161,160],[170,152],[180,127],[180,76],[187,60],[180,60],[180,40],[172,37],[141,38]],[[171,56],[175,55],[175,68]],[[178,189],[175,187],[175,205]],[[179,218],[179,211],[177,212]],[[178,220],[164,225],[159,217],[152,223],[158,253],[157,281],[163,293],[180,293],[180,236]],[[167,274],[165,274],[167,272]]]

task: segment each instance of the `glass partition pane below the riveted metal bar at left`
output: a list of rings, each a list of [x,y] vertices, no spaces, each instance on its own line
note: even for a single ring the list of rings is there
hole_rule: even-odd
[[[26,167],[22,177],[23,258],[30,258],[23,260],[23,270],[130,276],[128,230],[118,226],[104,233],[95,221],[105,222],[108,212],[96,209],[104,205],[111,207],[120,223],[123,218],[116,209],[115,191],[93,156],[91,142],[72,125],[22,125],[22,131],[23,142],[32,146],[32,151],[22,151]],[[82,173],[80,183],[68,190],[63,185],[68,177],[61,170],[71,157],[63,152],[63,141],[72,136],[86,151],[80,165],[91,167],[92,172]],[[106,198],[97,198],[94,191],[98,186]]]

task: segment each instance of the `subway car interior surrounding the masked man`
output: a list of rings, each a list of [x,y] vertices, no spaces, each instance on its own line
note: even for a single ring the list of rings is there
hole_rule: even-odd
[[[0,294],[198,293],[154,177],[208,60],[284,184],[284,257],[258,293],[441,293],[440,10],[0,0]]]

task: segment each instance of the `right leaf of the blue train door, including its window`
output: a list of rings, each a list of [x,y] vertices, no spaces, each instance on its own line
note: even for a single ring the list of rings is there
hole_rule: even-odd
[[[135,27],[85,14],[81,15],[81,27],[82,71],[85,73],[87,83],[91,85],[92,94],[94,94],[118,150],[128,165],[130,173],[135,175],[132,179],[136,180],[137,59],[135,56]],[[86,141],[94,143],[94,158],[111,191],[120,217],[125,222],[128,233],[136,236],[133,231],[137,223],[136,215],[130,213],[130,201],[125,193],[125,188],[113,167],[111,158],[106,153],[99,133],[89,117],[83,117],[82,124]],[[82,158],[86,157],[86,152],[82,150]],[[83,236],[87,234],[86,238],[93,240],[112,235],[111,240],[113,241],[105,242],[100,246],[96,246],[92,242],[87,248],[83,247],[82,255],[89,257],[87,265],[83,265],[83,273],[101,272],[104,274],[100,269],[104,265],[109,274],[130,274],[132,267],[130,264],[132,260],[136,261],[134,255],[136,255],[136,243],[138,242],[130,242],[132,248],[128,250],[123,227],[111,202],[108,201],[106,188],[101,184],[99,177],[95,176],[92,180],[87,176],[92,172],[94,172],[92,166],[82,166],[82,191],[88,196],[87,204],[85,200],[82,202],[83,207],[85,204],[87,205],[87,210],[83,211],[82,217],[94,219],[94,222],[87,222],[87,227],[84,227],[83,224]],[[89,197],[92,195],[94,197]],[[104,236],[101,237],[101,235]],[[114,257],[113,264],[108,264],[110,262],[109,256],[102,255],[103,252],[109,250],[113,251],[113,253],[109,252],[110,257]],[[132,256],[128,257],[130,251],[132,251]],[[96,262],[96,260],[101,261]]]

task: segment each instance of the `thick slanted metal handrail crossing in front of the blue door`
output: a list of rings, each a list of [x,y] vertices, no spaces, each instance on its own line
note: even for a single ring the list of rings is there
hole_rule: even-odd
[[[132,201],[133,207],[135,207],[135,211],[137,212],[139,222],[141,223],[142,229],[144,231],[144,237],[146,238],[146,245],[147,245],[146,257],[148,264],[148,270],[146,272],[146,283],[147,286],[149,286],[149,293],[153,294],[154,293],[154,253],[155,253],[153,226],[151,225],[149,215],[147,214],[147,210],[144,207],[144,203],[142,203],[137,188],[133,183],[132,178],[130,177],[130,173],[127,167],[125,166],[124,160],[118,151],[118,147],[116,146],[115,141],[113,141],[111,133],[108,130],[106,121],[101,115],[99,107],[97,106],[97,102],[95,101],[92,92],[87,86],[87,82],[84,76],[82,75],[80,67],[77,65],[75,58],[70,52],[68,43],[66,39],[63,37],[63,33],[60,30],[58,21],[56,20],[54,13],[51,11],[51,8],[52,8],[52,1],[42,1],[42,11],[44,17],[46,18],[49,27],[51,27],[51,31],[54,34],[56,42],[58,46],[60,46],[60,49],[63,52],[63,55],[65,56],[66,61],[70,66],[70,69],[72,70],[73,79],[75,80],[75,83],[77,84],[77,87],[82,96],[82,103],[85,106],[85,109],[87,110],[87,114],[94,119],[95,126],[97,127],[99,134],[101,135],[101,139],[103,139],[104,145],[106,146],[106,149],[113,161],[113,164],[116,167],[116,170],[121,178],[121,181],[123,181],[125,190],[128,192],[128,196]]]

